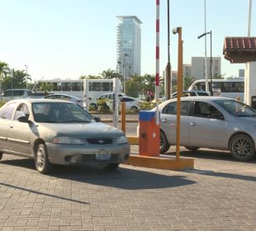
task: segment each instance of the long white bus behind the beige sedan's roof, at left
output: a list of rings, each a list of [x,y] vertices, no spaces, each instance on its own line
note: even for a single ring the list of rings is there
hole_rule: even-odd
[[[41,92],[47,85],[47,92],[55,94],[68,94],[83,99],[83,87],[85,79],[40,79],[36,82],[32,91]],[[121,84],[119,84],[121,86]],[[88,96],[97,99],[104,93],[113,92],[113,79],[88,79]],[[121,87],[118,89],[121,92]]]

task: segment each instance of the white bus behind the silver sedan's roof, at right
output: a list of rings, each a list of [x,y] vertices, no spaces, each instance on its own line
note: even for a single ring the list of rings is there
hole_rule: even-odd
[[[208,80],[209,90],[211,80]],[[189,91],[206,91],[206,80],[199,79],[188,87]],[[212,92],[214,96],[229,97],[244,101],[244,78],[212,79]]]

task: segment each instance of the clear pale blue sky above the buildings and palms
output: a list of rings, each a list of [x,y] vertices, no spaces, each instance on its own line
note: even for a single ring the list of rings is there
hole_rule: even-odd
[[[168,0],[159,6],[159,71],[168,62]],[[206,2],[206,11],[205,11]],[[0,0],[0,61],[24,69],[33,81],[73,78],[116,70],[116,16],[137,16],[141,24],[141,74],[155,74],[155,0]],[[206,20],[205,20],[206,12]],[[249,0],[169,0],[170,61],[178,64],[178,35],[183,28],[183,64],[192,57],[221,57],[221,74],[238,76],[244,64],[223,55],[225,37],[247,36]],[[256,0],[252,0],[251,36],[256,36]],[[25,66],[26,65],[26,66]]]

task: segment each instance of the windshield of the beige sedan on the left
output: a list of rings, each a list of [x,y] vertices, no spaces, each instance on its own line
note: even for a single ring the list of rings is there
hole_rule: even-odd
[[[83,123],[90,122],[92,116],[82,107],[65,102],[32,103],[36,122],[45,123]]]

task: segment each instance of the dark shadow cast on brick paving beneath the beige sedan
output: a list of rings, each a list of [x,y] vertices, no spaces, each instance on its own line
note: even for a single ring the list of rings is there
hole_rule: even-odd
[[[1,164],[22,167],[26,169],[35,169],[35,177],[39,172],[36,171],[34,160],[27,158],[2,160]],[[147,172],[146,172],[147,171]],[[34,175],[34,173],[32,173]],[[36,176],[37,175],[37,176]],[[187,180],[183,176],[161,175],[149,170],[141,171],[130,169],[121,165],[116,170],[104,170],[100,167],[66,167],[55,165],[49,176],[60,179],[79,181],[96,186],[108,186],[125,190],[142,190],[142,189],[160,189],[167,187],[186,186],[197,183],[196,181]]]

